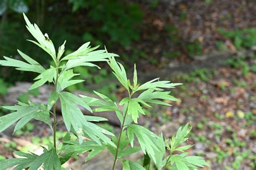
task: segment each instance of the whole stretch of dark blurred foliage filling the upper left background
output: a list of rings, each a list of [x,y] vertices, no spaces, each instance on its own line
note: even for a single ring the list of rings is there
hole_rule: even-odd
[[[61,8],[63,5],[65,5],[65,8]],[[28,12],[31,18],[37,20],[40,27],[47,32],[51,32],[51,40],[56,45],[62,44],[61,39],[68,40],[70,43],[66,48],[69,50],[66,50],[65,54],[68,51],[74,51],[77,44],[83,43],[82,40],[91,41],[93,45],[107,45],[113,48],[114,46],[129,46],[140,37],[137,27],[142,22],[142,11],[137,3],[112,0],[103,2],[98,0],[1,1],[0,16],[1,12],[5,12],[0,21],[0,55],[13,56],[13,58],[17,59],[20,56],[11,47],[18,47],[21,51],[33,56],[33,59],[41,63],[41,65],[48,65],[50,58],[47,58],[43,53],[39,55],[38,51],[31,46],[25,46],[23,37],[28,38],[29,35],[23,28],[22,15],[17,15],[14,12],[15,9],[17,9],[17,12]],[[59,16],[58,18],[61,19],[56,24],[56,18],[50,16]],[[83,17],[83,22],[81,22],[80,16],[86,16],[89,19],[84,19]],[[81,34],[83,34],[82,39],[80,38]],[[77,73],[76,70],[74,72]],[[17,75],[17,72],[12,68],[8,68],[8,72],[6,74],[1,72],[0,76],[6,82],[14,83],[21,80],[31,81],[36,75],[28,73],[26,76],[10,76],[12,74]],[[102,79],[102,77],[100,78]],[[81,85],[77,86],[81,89]],[[112,89],[113,85],[104,87],[101,91],[112,91]],[[113,95],[112,98],[114,98]]]

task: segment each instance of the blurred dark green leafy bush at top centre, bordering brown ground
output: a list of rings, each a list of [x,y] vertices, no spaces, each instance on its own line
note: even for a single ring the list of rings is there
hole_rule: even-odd
[[[136,3],[125,3],[122,1],[85,1],[69,0],[73,4],[73,11],[87,9],[87,17],[91,24],[100,26],[93,27],[90,33],[84,34],[84,39],[93,40],[107,34],[110,42],[129,46],[132,41],[139,39],[139,30],[136,26],[142,22],[142,12]],[[90,24],[90,25],[91,25]],[[109,45],[111,45],[110,42]],[[102,43],[100,43],[102,44]]]

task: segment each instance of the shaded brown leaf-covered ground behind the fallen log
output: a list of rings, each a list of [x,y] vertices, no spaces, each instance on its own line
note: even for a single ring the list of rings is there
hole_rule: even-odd
[[[144,16],[138,28],[142,36],[124,51],[130,55],[127,63],[133,65],[135,54],[141,66],[138,69],[145,72],[166,67],[170,61],[190,62],[191,56],[211,53],[217,49],[217,41],[236,50],[218,29],[256,27],[255,1],[159,1],[157,6],[147,1],[137,2]],[[121,50],[119,54],[122,53]]]

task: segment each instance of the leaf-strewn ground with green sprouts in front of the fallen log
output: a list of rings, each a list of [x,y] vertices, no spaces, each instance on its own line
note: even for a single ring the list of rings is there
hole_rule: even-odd
[[[255,63],[254,57],[254,63]],[[212,169],[253,169],[256,154],[256,74],[242,68],[201,69],[178,75],[172,90],[180,103],[152,110],[151,127],[192,122],[192,154],[205,157]],[[161,110],[161,111],[159,111]],[[172,126],[173,127],[173,126]],[[165,130],[166,131],[166,130]]]

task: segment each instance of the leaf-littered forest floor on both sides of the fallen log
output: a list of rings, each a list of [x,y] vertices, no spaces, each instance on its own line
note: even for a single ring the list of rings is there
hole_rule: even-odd
[[[139,28],[143,32],[142,39],[134,44],[135,51],[125,50],[130,50],[127,53],[131,57],[139,58],[138,65],[143,72],[169,67],[176,62],[189,63],[193,60],[191,56],[220,48],[238,51],[240,46],[246,47],[244,40],[240,39],[238,46],[234,41],[238,38],[226,38],[218,29],[256,27],[253,1],[187,1],[169,4],[167,8],[165,4],[139,3],[147,16]],[[204,157],[211,169],[253,169],[256,160],[256,58],[223,62],[226,66],[218,69],[197,69],[170,77],[172,82],[184,84],[172,90],[172,95],[181,102],[170,103],[172,107],[144,108],[148,113],[144,124],[152,131],[160,129],[173,135],[180,125],[191,121],[193,129],[187,141],[195,144],[189,151],[191,154]],[[115,126],[106,123],[102,126],[117,131]],[[170,127],[173,129],[168,129]],[[64,126],[58,129],[59,140],[65,135],[64,130]],[[14,150],[39,154],[42,150],[37,145],[47,145],[49,140],[52,140],[50,130],[38,122],[26,124],[14,137],[1,133],[0,159],[15,157]],[[69,163],[77,159],[79,157]]]

